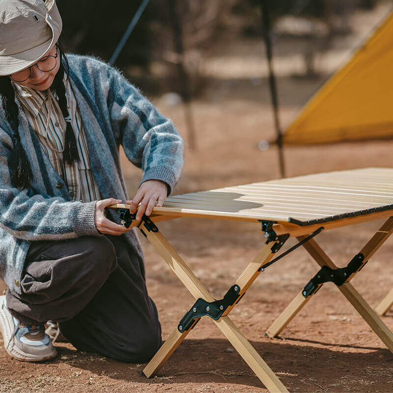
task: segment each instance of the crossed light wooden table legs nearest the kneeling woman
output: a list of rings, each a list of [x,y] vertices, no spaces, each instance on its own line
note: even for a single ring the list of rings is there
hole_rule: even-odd
[[[159,231],[148,231],[143,227],[141,230],[149,242],[168,263],[175,275],[183,282],[185,287],[196,299],[202,298],[208,302],[214,301],[214,298],[210,295],[207,289],[201,284],[191,269],[186,265]],[[266,244],[262,248],[261,252],[255,257],[253,262],[246,267],[243,274],[239,277],[238,281],[242,284],[242,286],[240,286],[240,283],[238,284],[241,288],[240,295],[247,290],[247,288],[259,275],[258,269],[260,266],[263,263],[268,262],[274,255],[270,250],[272,244],[273,243],[270,243],[269,245]],[[233,306],[231,309],[232,308]],[[213,320],[213,322],[222,331],[245,362],[251,367],[269,392],[288,392],[277,375],[264,362],[250,342],[241,334],[239,329],[227,315],[220,317],[217,321]],[[189,331],[190,330],[191,328]],[[166,362],[178,345],[180,345],[188,332],[180,333],[177,329],[174,330],[153,359],[148,363],[148,365],[146,365],[143,370],[144,374],[146,376],[154,374]]]

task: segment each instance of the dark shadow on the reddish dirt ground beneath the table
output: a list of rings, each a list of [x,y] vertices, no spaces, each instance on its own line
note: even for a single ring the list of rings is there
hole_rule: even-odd
[[[319,386],[325,389],[322,391],[334,388],[340,392],[351,389],[370,392],[369,385],[372,386],[371,391],[384,388],[386,391],[386,387],[392,382],[393,356],[388,349],[347,344],[321,348],[310,344],[289,344],[285,342],[287,340],[288,338],[250,342],[290,391],[301,389],[301,392],[316,392]],[[320,344],[311,340],[297,341]],[[340,348],[343,347],[357,351],[342,352]],[[221,383],[264,388],[226,339],[186,339],[157,375],[150,379],[142,374],[145,366],[142,364],[118,362],[59,344],[56,348],[58,357],[51,362],[53,365],[68,364],[92,375],[109,376],[124,382],[166,385]]]

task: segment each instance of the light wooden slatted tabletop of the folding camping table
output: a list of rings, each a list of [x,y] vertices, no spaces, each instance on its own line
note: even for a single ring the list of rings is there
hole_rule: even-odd
[[[153,215],[313,225],[393,209],[393,169],[365,168],[168,197]]]

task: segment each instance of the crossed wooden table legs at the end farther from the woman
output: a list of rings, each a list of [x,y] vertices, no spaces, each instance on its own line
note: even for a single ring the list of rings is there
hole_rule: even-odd
[[[363,264],[365,265],[368,259],[379,249],[379,247],[389,238],[393,232],[393,218],[389,218],[375,233],[375,235],[367,242],[365,247],[363,247],[360,252],[363,254]],[[299,240],[303,239],[304,236],[298,237]],[[305,249],[309,252],[312,258],[317,262],[319,266],[328,266],[331,269],[337,269],[333,261],[323,252],[323,250],[318,246],[318,244],[313,240],[309,240],[308,243],[303,245]],[[358,254],[359,255],[359,254]],[[360,270],[359,269],[359,270]],[[359,271],[357,270],[351,274],[346,282],[342,285],[337,286],[341,293],[347,298],[347,300],[352,304],[352,306],[360,313],[364,320],[368,323],[371,329],[377,334],[379,338],[385,343],[385,345],[393,352],[393,334],[390,329],[382,322],[378,317],[377,313],[371,309],[371,307],[365,302],[362,296],[356,291],[352,286],[350,281],[355,274]],[[322,284],[321,284],[322,285]],[[321,286],[320,285],[320,286]],[[317,290],[319,287],[317,288]],[[306,303],[313,297],[316,293],[315,290],[312,294],[305,297],[303,292],[300,292],[295,299],[288,305],[288,307],[281,313],[281,315],[276,319],[275,322],[267,330],[266,334],[269,337],[276,337],[282,329],[295,317],[295,315],[306,305]]]

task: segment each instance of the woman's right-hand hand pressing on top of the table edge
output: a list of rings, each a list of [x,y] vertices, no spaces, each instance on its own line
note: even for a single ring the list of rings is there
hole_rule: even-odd
[[[149,216],[157,202],[157,206],[162,206],[168,194],[167,183],[161,180],[146,180],[137,191],[133,200],[127,200],[130,204],[130,212],[135,213],[135,210],[140,203],[137,213],[137,220],[142,218],[143,213]]]

